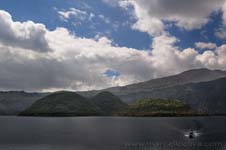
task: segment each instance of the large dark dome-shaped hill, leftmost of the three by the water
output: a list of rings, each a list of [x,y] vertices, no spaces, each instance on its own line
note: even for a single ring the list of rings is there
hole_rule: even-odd
[[[88,99],[75,92],[56,92],[31,105],[20,115],[26,116],[89,116],[99,109]]]

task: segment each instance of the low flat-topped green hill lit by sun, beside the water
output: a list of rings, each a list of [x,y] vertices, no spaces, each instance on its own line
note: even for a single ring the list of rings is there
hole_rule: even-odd
[[[189,105],[179,100],[144,99],[130,104],[122,116],[188,116],[198,115]]]

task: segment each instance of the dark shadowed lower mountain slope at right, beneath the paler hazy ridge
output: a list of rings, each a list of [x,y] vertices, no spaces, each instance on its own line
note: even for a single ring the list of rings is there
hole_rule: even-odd
[[[226,114],[226,78],[134,93],[131,96],[179,99],[203,112]]]

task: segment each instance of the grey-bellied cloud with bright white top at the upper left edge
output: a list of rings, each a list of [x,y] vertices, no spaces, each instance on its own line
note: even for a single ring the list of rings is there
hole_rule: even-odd
[[[32,21],[15,22],[11,15],[0,10],[0,43],[38,52],[51,51],[43,24]]]

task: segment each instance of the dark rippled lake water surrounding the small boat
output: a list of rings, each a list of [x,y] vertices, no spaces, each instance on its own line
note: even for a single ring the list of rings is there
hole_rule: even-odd
[[[226,150],[226,117],[0,117],[0,150]]]

